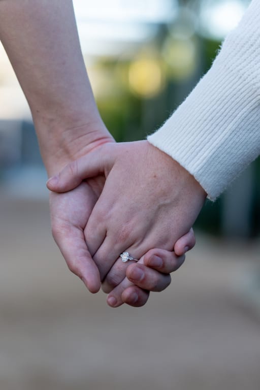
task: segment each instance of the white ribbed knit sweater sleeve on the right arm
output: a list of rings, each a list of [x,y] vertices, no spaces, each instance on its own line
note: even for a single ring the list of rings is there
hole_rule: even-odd
[[[226,37],[209,72],[147,139],[212,200],[260,154],[260,0]]]

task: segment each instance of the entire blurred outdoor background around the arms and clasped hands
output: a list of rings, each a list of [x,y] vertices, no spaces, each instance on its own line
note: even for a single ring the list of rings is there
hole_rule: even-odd
[[[73,3],[96,102],[121,142],[169,117],[250,2]],[[259,161],[206,203],[197,247],[167,291],[111,309],[53,243],[34,126],[0,46],[1,390],[258,389]]]

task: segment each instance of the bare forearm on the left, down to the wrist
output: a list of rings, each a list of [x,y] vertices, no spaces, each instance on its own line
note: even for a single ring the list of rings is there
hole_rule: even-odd
[[[71,0],[1,0],[0,39],[51,175],[110,134],[96,108]]]

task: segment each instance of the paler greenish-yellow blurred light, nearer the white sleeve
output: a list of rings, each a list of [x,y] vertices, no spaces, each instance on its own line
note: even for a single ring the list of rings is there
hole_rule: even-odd
[[[186,79],[196,68],[196,46],[191,39],[169,38],[165,43],[164,58],[170,77]]]

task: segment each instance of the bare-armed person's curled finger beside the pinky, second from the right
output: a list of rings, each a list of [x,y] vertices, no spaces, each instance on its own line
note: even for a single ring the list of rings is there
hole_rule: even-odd
[[[177,256],[175,252],[165,249],[151,249],[144,255],[144,265],[147,267],[146,273],[148,268],[153,268],[161,273],[170,274],[180,268],[184,260],[184,254]]]

